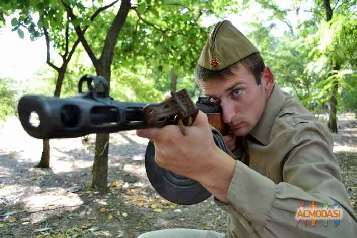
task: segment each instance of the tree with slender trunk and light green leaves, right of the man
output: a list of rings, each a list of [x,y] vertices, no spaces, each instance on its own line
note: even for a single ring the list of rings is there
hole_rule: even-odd
[[[353,61],[353,57],[346,56],[355,42],[352,35],[344,35],[344,45],[350,47],[342,48],[336,39],[341,34],[344,22],[353,16],[356,1],[291,1],[291,7],[287,9],[279,8],[273,1],[258,2],[264,9],[273,12],[265,21],[278,19],[288,26],[283,38],[278,39],[276,47],[272,47],[275,52],[270,52],[275,55],[276,62],[273,64],[279,66],[275,72],[283,84],[293,88],[294,94],[309,109],[316,110],[328,103],[328,126],[336,133],[336,113],[341,102],[339,85]],[[291,22],[292,13],[306,16]]]

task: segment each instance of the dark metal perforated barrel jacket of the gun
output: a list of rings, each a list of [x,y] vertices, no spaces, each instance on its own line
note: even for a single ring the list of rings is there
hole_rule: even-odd
[[[18,113],[25,131],[38,139],[74,138],[173,123],[169,118],[146,123],[142,111],[145,105],[113,100],[103,103],[83,97],[24,96],[19,101]],[[39,122],[33,122],[34,114]]]

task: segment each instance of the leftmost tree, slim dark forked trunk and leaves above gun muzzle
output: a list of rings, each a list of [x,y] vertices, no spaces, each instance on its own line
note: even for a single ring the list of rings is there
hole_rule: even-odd
[[[93,21],[95,17],[101,12],[111,7],[107,5],[97,9],[94,14],[90,17],[89,21]],[[61,88],[65,73],[67,71],[68,63],[70,62],[75,49],[77,48],[80,40],[74,41],[75,33],[69,27],[69,19],[65,16],[65,11],[61,3],[57,1],[46,2],[46,1],[36,1],[29,4],[17,4],[11,5],[11,2],[2,6],[4,9],[10,9],[12,12],[15,10],[20,10],[19,16],[14,17],[11,20],[11,24],[14,27],[12,30],[17,31],[21,38],[24,38],[24,32],[21,30],[25,29],[30,33],[30,39],[36,40],[38,37],[45,36],[46,48],[47,48],[47,64],[52,67],[57,72],[56,88],[54,92],[54,97],[60,97]],[[11,12],[8,10],[8,12]],[[39,14],[39,20],[35,23],[33,21],[33,15]],[[1,19],[0,19],[1,20]],[[86,26],[83,29],[83,34],[88,29]],[[74,43],[71,43],[73,42]],[[53,42],[53,46],[59,52],[62,58],[62,65],[56,66],[52,63],[50,59],[50,43]],[[62,54],[61,54],[62,52]],[[48,168],[50,161],[50,145],[49,139],[43,140],[43,151],[40,162],[36,167]]]

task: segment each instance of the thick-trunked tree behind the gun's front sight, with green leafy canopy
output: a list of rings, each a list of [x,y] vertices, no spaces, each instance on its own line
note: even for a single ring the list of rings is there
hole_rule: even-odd
[[[208,9],[222,10],[224,6],[231,4],[230,1],[222,2],[221,4],[214,4],[206,1],[183,1],[180,4],[165,4],[162,1],[147,0],[138,1],[137,5],[131,6],[130,1],[121,1],[116,14],[113,14],[112,17],[109,17],[110,13],[106,15],[107,21],[113,19],[110,27],[95,28],[99,29],[101,34],[94,35],[105,38],[103,47],[100,49],[102,44],[95,40],[90,42],[82,33],[81,29],[85,24],[81,26],[81,24],[75,23],[79,16],[82,19],[85,17],[85,8],[81,7],[80,4],[73,5],[69,1],[62,1],[74,23],[79,39],[95,67],[96,73],[103,76],[108,82],[111,80],[112,64],[114,67],[127,66],[127,68],[133,69],[135,68],[133,65],[137,65],[137,60],[143,58],[144,61],[149,59],[150,63],[154,65],[153,70],[160,70],[160,68],[162,70],[167,65],[168,68],[174,67],[179,70],[190,65],[186,67],[186,70],[187,68],[191,69],[191,66],[198,59],[196,56],[199,52],[196,49],[203,45],[201,44],[202,41],[198,41],[200,44],[198,46],[195,44],[197,39],[190,39],[194,35],[197,36],[197,30],[193,31],[194,34],[192,30],[198,29],[198,33],[205,32],[205,34],[199,35],[199,38],[205,38],[207,35],[206,31],[203,30],[204,28],[197,23],[199,17],[204,13],[199,9],[200,7],[208,7]],[[73,8],[77,9],[78,15],[74,14]],[[174,8],[175,11],[173,11]],[[211,12],[214,11],[211,10]],[[146,17],[150,20],[147,20]],[[106,32],[103,33],[103,31]],[[125,31],[129,34],[124,35],[122,32]],[[179,41],[177,38],[182,40]],[[119,41],[121,47],[115,47],[117,41]],[[177,46],[177,42],[183,43],[182,47],[185,47],[184,50],[186,50],[185,55],[174,54],[182,50]],[[195,47],[192,47],[194,45]],[[193,49],[191,50],[190,47]],[[117,59],[115,61],[113,61],[114,53]],[[163,62],[163,58],[165,62]],[[147,62],[142,64],[148,65]],[[185,72],[187,72],[186,70]],[[100,189],[107,187],[108,146],[108,134],[97,134],[92,185]]]

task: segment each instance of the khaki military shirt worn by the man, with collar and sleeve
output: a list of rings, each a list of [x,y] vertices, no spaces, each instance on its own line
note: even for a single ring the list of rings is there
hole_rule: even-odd
[[[231,204],[215,199],[230,213],[227,237],[357,237],[328,128],[277,84],[245,141],[246,149],[235,151],[240,161],[227,193]],[[331,209],[336,201],[342,220],[336,227],[333,220],[327,227],[323,220],[297,225],[302,201],[320,208],[327,202]]]

